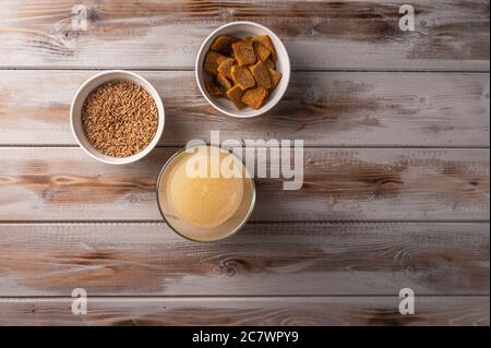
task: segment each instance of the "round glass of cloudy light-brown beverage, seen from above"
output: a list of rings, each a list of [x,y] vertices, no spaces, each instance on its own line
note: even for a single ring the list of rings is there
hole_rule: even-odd
[[[193,153],[179,153],[166,165],[158,182],[158,203],[178,233],[213,241],[244,224],[254,203],[254,188],[233,154],[197,146]]]

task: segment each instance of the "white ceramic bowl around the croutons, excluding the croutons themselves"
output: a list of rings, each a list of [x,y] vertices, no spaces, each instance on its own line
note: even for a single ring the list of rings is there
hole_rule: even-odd
[[[238,110],[229,99],[212,97],[205,87],[206,79],[212,79],[212,76],[203,69],[203,62],[214,39],[219,35],[232,35],[239,38],[244,38],[246,36],[259,36],[265,34],[270,35],[273,45],[275,46],[276,53],[278,56],[278,59],[276,60],[276,70],[278,70],[283,76],[279,84],[267,97],[263,107],[259,110],[254,110],[250,107]],[[254,22],[231,22],[215,29],[201,45],[196,57],[195,73],[197,86],[200,87],[201,93],[215,109],[231,117],[251,118],[267,112],[283,98],[290,81],[290,59],[285,45],[283,45],[279,37],[267,27]]]

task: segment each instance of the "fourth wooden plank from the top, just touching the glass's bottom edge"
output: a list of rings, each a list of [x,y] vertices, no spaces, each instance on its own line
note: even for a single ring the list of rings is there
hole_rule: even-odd
[[[489,224],[1,224],[0,296],[489,295]]]

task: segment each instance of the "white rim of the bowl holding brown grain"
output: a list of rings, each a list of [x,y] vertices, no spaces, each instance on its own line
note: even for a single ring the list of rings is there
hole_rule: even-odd
[[[158,100],[156,100],[153,96],[152,96],[152,98],[154,99],[155,104],[157,105],[157,111],[158,111],[158,109],[159,109],[159,106],[161,107],[161,119],[163,119],[160,131],[159,131],[159,125],[157,125],[157,131],[156,131],[156,133],[155,133],[154,139],[152,140],[152,142],[151,142],[144,149],[142,149],[140,153],[136,153],[136,154],[134,154],[134,155],[132,155],[132,156],[122,157],[122,158],[115,157],[115,158],[119,158],[119,159],[124,159],[124,158],[131,158],[131,157],[135,156],[135,157],[132,158],[131,160],[128,160],[128,161],[119,161],[119,163],[117,163],[117,161],[111,161],[111,160],[107,160],[107,159],[104,159],[104,158],[101,158],[101,157],[98,157],[98,156],[94,155],[93,153],[91,153],[87,148],[85,148],[85,145],[83,145],[82,142],[80,141],[79,135],[77,135],[76,132],[75,132],[75,125],[73,124],[73,108],[74,108],[74,106],[75,106],[75,100],[76,100],[76,98],[79,98],[79,95],[80,95],[80,93],[82,92],[82,89],[83,89],[88,83],[91,83],[92,81],[94,81],[94,80],[96,80],[96,79],[98,79],[98,77],[100,77],[100,76],[108,75],[108,74],[115,74],[115,73],[123,74],[123,75],[131,75],[131,76],[133,76],[133,77],[135,77],[135,79],[137,79],[137,80],[141,80],[142,82],[144,82],[144,83],[147,85],[148,89],[151,89],[152,93],[154,93],[156,96],[158,96]],[[99,85],[97,85],[97,87],[98,87],[98,86],[99,86]],[[97,87],[96,87],[96,88],[97,88]],[[94,88],[94,89],[95,89],[95,88]],[[93,89],[93,91],[94,91],[94,89]],[[91,93],[92,93],[93,91],[91,91]],[[159,116],[158,116],[158,121],[160,121]],[[107,165],[115,165],[115,166],[129,165],[129,164],[135,163],[135,161],[137,161],[137,160],[140,160],[140,159],[146,157],[146,156],[152,152],[152,149],[155,148],[155,146],[157,145],[157,142],[159,141],[161,134],[164,133],[165,121],[166,121],[166,111],[165,111],[164,103],[161,101],[160,95],[158,94],[157,89],[155,89],[155,87],[154,87],[154,86],[148,82],[148,80],[146,80],[145,77],[143,77],[143,76],[141,76],[141,75],[134,73],[134,72],[127,71],[127,70],[107,70],[107,71],[101,71],[101,72],[99,72],[99,73],[97,73],[97,74],[95,74],[95,75],[88,77],[84,83],[82,83],[82,85],[79,87],[79,89],[76,89],[75,95],[73,96],[73,99],[72,99],[72,104],[71,104],[71,106],[70,106],[70,129],[72,130],[72,134],[73,134],[73,136],[75,137],[76,143],[79,144],[79,146],[80,146],[80,147],[81,147],[88,156],[91,156],[92,158],[97,159],[97,160],[99,160],[99,161],[101,161],[101,163],[105,163],[105,164],[107,164]],[[137,155],[141,155],[141,156],[137,156]]]

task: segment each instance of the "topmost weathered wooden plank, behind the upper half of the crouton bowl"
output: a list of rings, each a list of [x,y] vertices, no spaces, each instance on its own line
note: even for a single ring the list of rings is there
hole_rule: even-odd
[[[415,0],[415,32],[398,27],[404,3],[14,0],[0,4],[0,67],[192,69],[214,28],[251,20],[285,40],[295,69],[489,71],[489,0]]]

